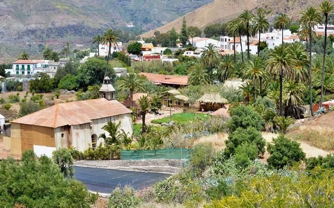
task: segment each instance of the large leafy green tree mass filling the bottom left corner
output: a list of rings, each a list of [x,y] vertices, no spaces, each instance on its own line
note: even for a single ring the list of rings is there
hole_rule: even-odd
[[[0,161],[0,172],[1,207],[88,208],[97,200],[82,182],[66,179],[50,158],[37,159],[32,150],[23,153],[21,162]]]

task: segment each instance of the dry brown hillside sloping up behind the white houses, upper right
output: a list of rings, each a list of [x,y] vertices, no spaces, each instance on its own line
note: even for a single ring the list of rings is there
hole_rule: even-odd
[[[244,9],[254,10],[262,7],[268,14],[268,19],[273,20],[274,16],[279,13],[287,13],[292,20],[298,20],[300,11],[308,6],[318,6],[319,0],[285,0],[278,2],[276,0],[214,0],[203,7],[200,7],[185,15],[189,26],[204,28],[208,24],[228,22],[233,17],[238,16]],[[154,31],[167,32],[172,27],[180,31],[183,17],[179,17],[172,22],[146,32],[141,37],[153,36]]]

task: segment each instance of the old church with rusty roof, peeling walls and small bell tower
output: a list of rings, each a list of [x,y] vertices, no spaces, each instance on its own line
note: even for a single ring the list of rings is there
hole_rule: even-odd
[[[4,136],[5,149],[13,155],[33,150],[37,156],[51,157],[59,148],[73,147],[84,151],[103,143],[99,135],[108,132],[107,122],[121,123],[121,129],[132,136],[132,111],[115,100],[115,89],[105,77],[99,99],[58,103],[11,121],[10,135]]]

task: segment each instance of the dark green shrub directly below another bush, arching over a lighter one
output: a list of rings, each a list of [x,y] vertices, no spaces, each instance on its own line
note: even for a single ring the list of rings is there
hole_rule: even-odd
[[[253,143],[258,148],[258,154],[264,154],[265,152],[265,140],[263,139],[261,133],[257,131],[254,127],[249,127],[247,129],[238,128],[233,133],[228,136],[225,141],[226,148],[224,149],[225,155],[229,157],[235,153],[235,149],[238,148],[244,142]]]

